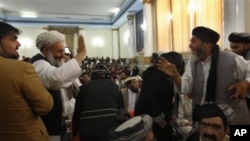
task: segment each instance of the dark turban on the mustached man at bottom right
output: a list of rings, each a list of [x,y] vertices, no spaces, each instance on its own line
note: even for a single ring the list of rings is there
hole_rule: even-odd
[[[228,126],[235,118],[234,110],[227,104],[196,105],[193,111],[194,121],[200,122],[203,118],[221,117],[224,126]]]

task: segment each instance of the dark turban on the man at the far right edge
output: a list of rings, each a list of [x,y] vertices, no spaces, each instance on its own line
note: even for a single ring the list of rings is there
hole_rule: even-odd
[[[228,36],[228,40],[233,43],[250,43],[250,34],[233,32]]]

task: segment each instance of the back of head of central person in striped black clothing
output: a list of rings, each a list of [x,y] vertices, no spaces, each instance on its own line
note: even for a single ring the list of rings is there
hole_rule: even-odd
[[[111,70],[108,64],[96,64],[91,72],[91,79],[111,79]]]

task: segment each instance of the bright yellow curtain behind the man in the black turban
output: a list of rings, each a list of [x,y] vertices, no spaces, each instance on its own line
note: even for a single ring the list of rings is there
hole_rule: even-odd
[[[195,26],[207,26],[223,36],[222,0],[157,0],[154,2],[158,51],[189,53],[191,31]],[[218,44],[221,45],[221,40]]]

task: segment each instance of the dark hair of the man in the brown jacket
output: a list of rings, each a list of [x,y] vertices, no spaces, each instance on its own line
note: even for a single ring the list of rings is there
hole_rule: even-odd
[[[10,33],[20,34],[19,29],[15,28],[14,26],[6,23],[0,22],[0,39],[7,36]]]

